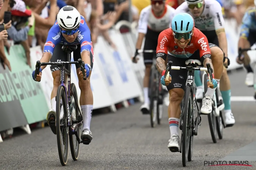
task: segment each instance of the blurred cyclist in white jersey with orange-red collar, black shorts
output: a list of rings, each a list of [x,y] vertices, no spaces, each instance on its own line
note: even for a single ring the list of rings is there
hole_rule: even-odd
[[[143,38],[145,37],[144,50],[156,50],[158,35],[161,31],[170,28],[171,20],[174,16],[174,8],[166,5],[165,0],[151,0],[151,5],[143,8],[139,19],[139,36],[136,44],[136,52],[141,49]],[[153,53],[143,53],[145,64],[145,76],[143,81],[144,104],[140,110],[143,114],[148,114],[150,100],[148,98],[148,84],[150,79],[150,69],[153,63]],[[133,61],[137,63],[137,59]]]

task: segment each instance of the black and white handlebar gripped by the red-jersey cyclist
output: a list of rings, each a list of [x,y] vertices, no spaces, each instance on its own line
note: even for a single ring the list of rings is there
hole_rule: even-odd
[[[166,67],[166,71],[165,71],[165,77],[164,80],[169,79],[169,70],[200,70],[200,71],[208,71],[209,75],[208,75],[208,79],[210,80],[210,84],[213,83],[213,77],[212,77],[212,72],[213,69],[211,68],[210,63],[206,64],[207,68],[201,67],[201,68],[196,68],[196,67],[192,67],[192,66],[186,66],[186,67],[180,67],[180,66],[172,66],[172,61],[169,61],[169,63],[167,64]]]

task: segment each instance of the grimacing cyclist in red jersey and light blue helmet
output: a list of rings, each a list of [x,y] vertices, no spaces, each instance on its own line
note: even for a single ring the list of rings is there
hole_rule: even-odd
[[[195,23],[191,15],[180,13],[173,17],[171,28],[162,31],[158,37],[156,67],[162,74],[161,84],[169,91],[169,127],[171,138],[168,148],[172,152],[179,149],[179,123],[181,116],[181,101],[184,96],[187,81],[187,70],[170,70],[169,80],[164,80],[165,60],[172,61],[172,66],[186,67],[186,60],[201,60],[202,66],[210,63],[213,68],[213,83],[208,82],[208,89],[202,99],[201,114],[212,112],[212,97],[223,72],[223,51],[214,44],[208,44],[205,35],[194,28]],[[209,81],[209,80],[208,80]]]

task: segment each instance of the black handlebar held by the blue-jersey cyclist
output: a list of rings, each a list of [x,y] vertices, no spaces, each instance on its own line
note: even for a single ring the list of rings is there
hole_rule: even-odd
[[[37,61],[37,64],[35,65],[35,77],[34,80],[37,80],[37,75],[39,75],[40,72],[40,67],[41,66],[47,66],[47,65],[53,65],[53,64],[79,64],[82,70],[82,73],[84,75],[84,80],[85,78],[85,71],[84,71],[84,62],[82,61],[81,58],[79,58],[76,62],[46,62],[46,63],[41,63],[40,61]]]

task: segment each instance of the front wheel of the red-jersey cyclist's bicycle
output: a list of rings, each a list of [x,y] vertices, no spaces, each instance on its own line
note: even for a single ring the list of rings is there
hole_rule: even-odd
[[[189,137],[190,135],[190,112],[191,112],[191,88],[187,86],[183,109],[183,127],[182,127],[182,165],[185,167],[188,158]]]

